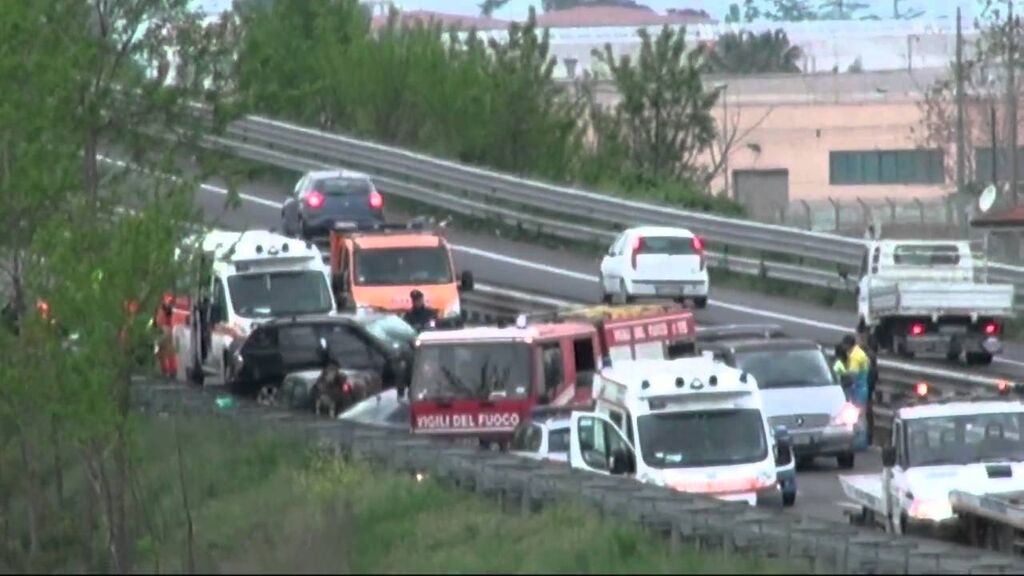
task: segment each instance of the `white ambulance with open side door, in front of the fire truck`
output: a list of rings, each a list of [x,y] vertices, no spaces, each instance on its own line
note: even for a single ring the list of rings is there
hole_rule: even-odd
[[[778,497],[792,447],[783,427],[769,426],[750,374],[710,355],[633,360],[603,370],[595,385],[594,412],[572,413],[573,468],[752,505]],[[786,496],[792,505],[795,484]]]

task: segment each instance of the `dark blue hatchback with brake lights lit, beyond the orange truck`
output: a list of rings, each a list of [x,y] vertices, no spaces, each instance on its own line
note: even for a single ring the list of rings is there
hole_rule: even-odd
[[[374,224],[384,221],[384,197],[370,176],[348,170],[307,172],[281,208],[287,236],[319,240],[337,222]]]

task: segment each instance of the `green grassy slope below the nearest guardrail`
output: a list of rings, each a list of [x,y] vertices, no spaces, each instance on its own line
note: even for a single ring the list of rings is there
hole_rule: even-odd
[[[570,506],[507,515],[474,494],[315,453],[256,426],[211,417],[139,421],[137,571],[187,571],[180,439],[201,573],[790,573],[774,560],[672,553],[659,537]],[[80,488],[69,487],[76,495],[69,510],[89,497]],[[0,572],[110,570],[100,536],[91,557],[87,545],[73,544],[48,548],[32,570],[14,558]]]

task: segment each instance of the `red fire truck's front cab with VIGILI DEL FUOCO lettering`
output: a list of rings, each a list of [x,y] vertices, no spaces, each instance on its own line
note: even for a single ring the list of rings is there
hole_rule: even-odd
[[[505,444],[537,405],[590,397],[600,342],[590,324],[427,331],[410,388],[414,435]]]

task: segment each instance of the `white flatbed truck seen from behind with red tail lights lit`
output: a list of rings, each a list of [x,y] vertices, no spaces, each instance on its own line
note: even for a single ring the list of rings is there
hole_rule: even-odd
[[[977,281],[979,264],[969,242],[869,241],[857,285],[858,329],[903,357],[990,363],[1002,348],[1002,321],[1014,316],[1014,286]]]

